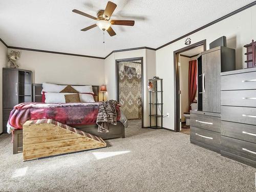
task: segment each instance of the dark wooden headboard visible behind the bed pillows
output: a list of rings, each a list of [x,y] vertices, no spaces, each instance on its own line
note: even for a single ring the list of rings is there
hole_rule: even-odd
[[[70,84],[70,86],[82,86],[82,85]],[[92,86],[92,87],[93,87],[93,93],[94,93],[94,100],[99,101],[99,86]],[[33,102],[41,102],[41,99],[42,99],[41,91],[42,91],[42,84],[33,83]]]

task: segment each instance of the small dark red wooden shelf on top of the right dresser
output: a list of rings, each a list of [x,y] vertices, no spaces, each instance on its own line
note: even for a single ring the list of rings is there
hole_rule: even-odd
[[[256,41],[254,42],[253,39],[250,44],[244,46],[246,48],[246,57],[247,60],[244,61],[247,63],[247,68],[256,67]]]

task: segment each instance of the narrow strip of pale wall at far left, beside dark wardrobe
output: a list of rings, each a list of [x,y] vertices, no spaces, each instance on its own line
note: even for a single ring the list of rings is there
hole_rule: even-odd
[[[3,132],[3,70],[2,68],[5,68],[7,66],[7,53],[8,49],[5,47],[5,45],[0,41],[0,134]]]

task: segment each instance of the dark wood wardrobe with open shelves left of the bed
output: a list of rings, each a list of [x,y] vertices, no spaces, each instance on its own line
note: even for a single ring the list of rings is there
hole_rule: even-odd
[[[3,133],[13,107],[32,101],[32,71],[3,68]]]

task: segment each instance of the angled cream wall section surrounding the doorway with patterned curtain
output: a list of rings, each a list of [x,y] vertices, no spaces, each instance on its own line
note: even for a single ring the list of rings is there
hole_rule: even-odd
[[[156,52],[153,50],[140,49],[132,51],[123,51],[112,53],[105,59],[105,83],[108,92],[106,97],[108,99],[116,98],[116,60],[143,57],[143,97],[144,97],[144,126],[148,126],[148,93],[147,93],[147,79],[152,78],[156,74]]]

